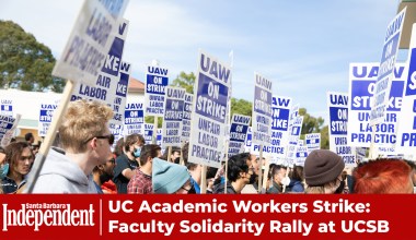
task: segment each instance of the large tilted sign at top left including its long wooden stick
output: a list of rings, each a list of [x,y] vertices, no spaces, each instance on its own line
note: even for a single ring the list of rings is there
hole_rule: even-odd
[[[112,43],[116,41],[114,37],[108,37],[108,35],[115,32],[113,26],[118,22],[118,17],[123,15],[126,5],[127,0],[93,0],[84,2],[67,47],[63,50],[63,57],[58,60],[53,71],[53,75],[69,80],[63,88],[62,98],[54,115],[55,117],[53,118],[48,133],[32,166],[33,173],[27,179],[25,192],[32,193],[33,191],[45,158],[49,153],[50,145],[55,140],[60,120],[70,101],[71,93],[76,89],[74,83],[82,82],[94,85],[99,71],[106,68],[104,61],[107,60],[108,49]],[[125,27],[126,25],[123,26]],[[122,28],[118,28],[118,33],[124,32]],[[108,59],[109,61],[115,63],[114,59]],[[125,68],[126,71],[129,71],[129,69]],[[120,87],[117,86],[116,92],[120,95],[124,94],[123,92],[127,94],[128,75],[126,80],[126,74],[120,74],[120,83],[126,84],[119,84]],[[116,104],[118,105],[119,103]],[[115,113],[115,120],[123,122],[123,119],[118,119],[120,116],[123,117],[123,115]]]

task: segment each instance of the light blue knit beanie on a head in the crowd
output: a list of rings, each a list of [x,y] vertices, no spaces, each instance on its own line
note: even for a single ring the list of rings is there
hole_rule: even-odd
[[[152,184],[154,193],[174,193],[189,180],[185,166],[153,158]]]

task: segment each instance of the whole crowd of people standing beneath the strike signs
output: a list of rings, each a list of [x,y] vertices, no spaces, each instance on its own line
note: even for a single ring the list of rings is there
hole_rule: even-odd
[[[304,166],[291,168],[265,166],[266,161],[251,153],[236,154],[226,161],[227,166],[208,167],[203,181],[203,166],[187,159],[188,143],[162,154],[159,145],[146,144],[142,135],[131,134],[118,140],[111,151],[112,118],[113,110],[103,104],[71,101],[55,144],[32,183],[32,193],[198,194],[206,189],[206,193],[213,194],[379,194],[414,193],[416,185],[414,161],[382,158],[348,169],[340,156],[327,149],[311,152]],[[26,134],[25,141],[0,148],[0,192],[24,192],[39,145]],[[265,189],[258,185],[264,175]]]

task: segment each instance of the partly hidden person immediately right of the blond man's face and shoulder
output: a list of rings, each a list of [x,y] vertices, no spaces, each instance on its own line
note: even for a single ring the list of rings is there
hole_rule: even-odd
[[[97,193],[112,193],[112,192],[108,192],[106,188],[104,188],[106,190],[106,192],[104,192],[103,183],[107,182],[114,177],[113,172],[114,172],[114,167],[116,166],[116,160],[114,159],[113,153],[108,155],[107,159],[108,160],[105,164],[97,165],[92,170]]]

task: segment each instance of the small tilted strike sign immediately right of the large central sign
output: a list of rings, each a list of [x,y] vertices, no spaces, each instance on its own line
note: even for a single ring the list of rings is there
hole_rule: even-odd
[[[228,148],[229,158],[244,151],[251,117],[234,113],[231,118],[230,143]]]

